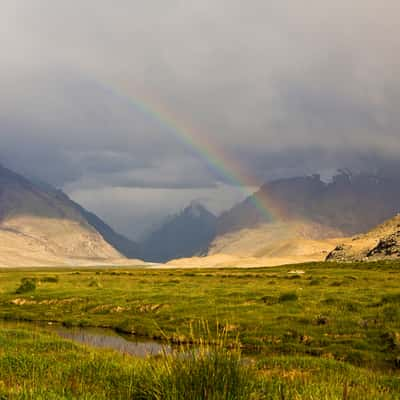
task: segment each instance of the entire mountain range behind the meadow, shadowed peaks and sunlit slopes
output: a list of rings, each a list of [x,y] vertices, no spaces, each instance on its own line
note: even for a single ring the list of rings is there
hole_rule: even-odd
[[[192,202],[135,243],[61,190],[0,166],[0,265],[124,263],[127,258],[173,265],[276,265],[328,255],[359,259],[351,255],[358,240],[368,242],[363,258],[378,257],[379,248],[396,242],[398,232],[382,234],[380,245],[374,233],[360,234],[396,215],[399,205],[396,174],[339,171],[330,182],[319,175],[280,179],[219,217]],[[355,234],[361,239],[348,244],[345,238]]]

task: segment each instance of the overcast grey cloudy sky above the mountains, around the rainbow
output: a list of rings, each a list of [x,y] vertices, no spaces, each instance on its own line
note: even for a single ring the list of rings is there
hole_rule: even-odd
[[[159,104],[256,182],[400,154],[395,0],[2,0],[0,161],[137,237],[243,197]]]

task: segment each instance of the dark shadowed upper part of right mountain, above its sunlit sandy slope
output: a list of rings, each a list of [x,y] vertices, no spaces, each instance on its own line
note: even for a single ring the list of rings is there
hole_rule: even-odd
[[[354,235],[390,218],[399,207],[400,176],[340,171],[329,183],[319,175],[281,179],[222,214],[217,234],[276,220],[305,220]]]

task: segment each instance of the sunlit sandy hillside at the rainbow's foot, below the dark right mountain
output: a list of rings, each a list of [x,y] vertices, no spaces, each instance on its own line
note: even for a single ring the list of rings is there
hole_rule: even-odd
[[[176,267],[258,267],[322,261],[341,232],[304,221],[264,224],[217,237],[206,257],[172,260]]]

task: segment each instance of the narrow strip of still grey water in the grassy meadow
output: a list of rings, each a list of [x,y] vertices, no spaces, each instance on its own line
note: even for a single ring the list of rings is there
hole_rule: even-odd
[[[170,353],[171,348],[155,341],[128,340],[109,329],[55,327],[55,332],[64,339],[70,339],[88,346],[117,350],[137,357]]]

